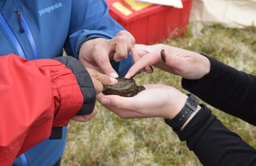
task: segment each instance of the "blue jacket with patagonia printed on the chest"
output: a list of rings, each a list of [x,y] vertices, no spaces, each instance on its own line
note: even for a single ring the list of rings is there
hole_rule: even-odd
[[[113,38],[121,27],[108,15],[104,0],[0,0],[0,56],[16,54],[28,60],[62,56],[78,58],[81,45],[93,37]],[[124,76],[131,56],[113,67]],[[45,140],[32,147],[14,165],[53,165],[61,157],[61,140]]]

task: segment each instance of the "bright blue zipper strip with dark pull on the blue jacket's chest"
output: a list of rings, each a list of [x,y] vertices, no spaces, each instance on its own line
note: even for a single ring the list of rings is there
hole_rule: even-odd
[[[25,31],[25,33],[28,37],[29,43],[30,43],[30,45],[32,47],[32,50],[33,50],[34,59],[39,59],[38,51],[37,51],[35,43],[34,43],[34,38],[33,38],[32,34],[31,34],[31,32],[30,32],[30,30],[27,26],[27,23],[26,23],[25,19],[22,18],[22,15],[21,15],[20,11],[18,11],[17,14],[18,14],[18,20],[19,20],[19,23],[20,23],[20,31],[21,32]]]

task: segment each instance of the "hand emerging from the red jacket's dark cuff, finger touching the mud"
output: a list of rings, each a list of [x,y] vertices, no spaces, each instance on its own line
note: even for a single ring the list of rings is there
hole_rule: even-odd
[[[87,68],[88,73],[92,78],[92,82],[95,88],[96,95],[102,92],[103,85],[113,86],[117,83],[117,79],[109,77],[105,74],[101,74],[93,69]],[[89,121],[97,113],[97,107],[95,106],[92,113],[88,115],[75,115],[71,119],[76,121]]]

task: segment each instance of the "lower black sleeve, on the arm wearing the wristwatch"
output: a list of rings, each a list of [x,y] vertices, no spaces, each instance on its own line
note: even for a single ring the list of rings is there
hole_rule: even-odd
[[[203,165],[256,165],[256,150],[229,131],[205,105],[182,131],[174,131],[186,141]]]

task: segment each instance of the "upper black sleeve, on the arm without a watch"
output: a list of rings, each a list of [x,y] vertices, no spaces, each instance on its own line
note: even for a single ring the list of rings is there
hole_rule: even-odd
[[[182,78],[182,87],[208,104],[256,126],[256,77],[214,58],[210,72],[200,80]]]

